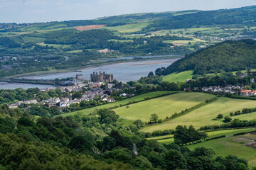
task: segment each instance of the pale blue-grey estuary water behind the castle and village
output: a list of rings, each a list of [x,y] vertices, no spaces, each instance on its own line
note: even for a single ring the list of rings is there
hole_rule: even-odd
[[[83,74],[84,79],[90,79],[92,72],[105,72],[106,74],[114,74],[114,79],[118,81],[127,82],[130,80],[137,81],[141,77],[146,77],[149,72],[154,72],[157,68],[168,67],[178,59],[164,59],[164,60],[146,60],[136,62],[123,62],[117,64],[105,64],[98,67],[88,67],[80,69],[79,72],[63,72],[53,74],[35,74],[30,77],[21,77],[24,79],[63,79],[68,77],[75,77],[76,74]],[[16,89],[22,87],[28,89],[31,87],[46,88],[48,85],[38,84],[17,84],[6,83],[0,84],[0,89]]]

